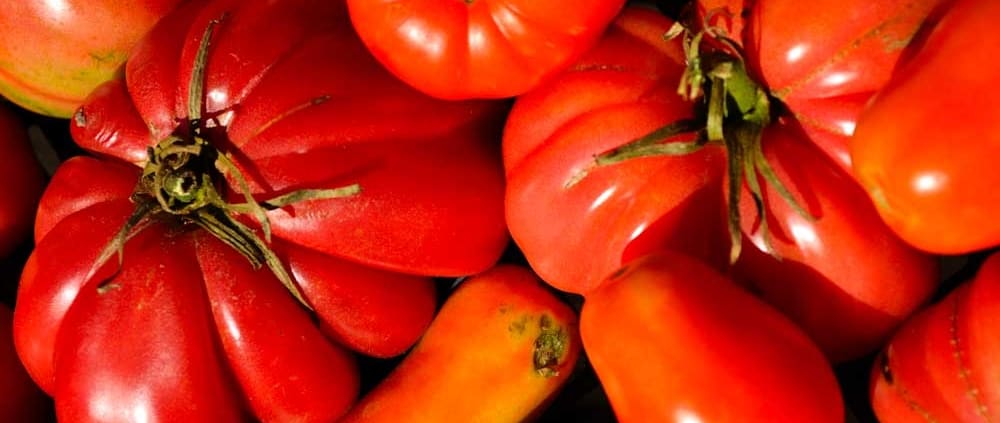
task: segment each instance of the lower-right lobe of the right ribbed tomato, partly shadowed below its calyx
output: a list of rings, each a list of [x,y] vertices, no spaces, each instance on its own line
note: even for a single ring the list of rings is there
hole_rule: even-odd
[[[734,276],[801,325],[831,360],[876,350],[934,293],[937,258],[900,240],[864,190],[796,126],[772,125],[762,142],[778,179],[812,219],[758,177],[780,259],[768,254],[744,183],[744,242]]]

